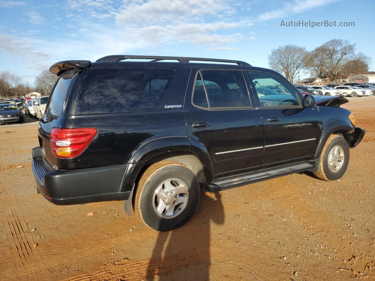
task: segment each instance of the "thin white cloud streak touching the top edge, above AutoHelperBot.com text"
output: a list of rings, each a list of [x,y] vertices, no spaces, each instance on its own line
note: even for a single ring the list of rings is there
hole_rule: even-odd
[[[296,13],[305,12],[306,10],[326,6],[335,1],[337,0],[294,0],[292,2],[287,2],[279,9],[261,14],[258,20],[266,21],[268,19],[283,18],[288,15],[294,15]]]

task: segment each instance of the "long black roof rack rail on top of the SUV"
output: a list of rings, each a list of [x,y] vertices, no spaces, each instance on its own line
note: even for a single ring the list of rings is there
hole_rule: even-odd
[[[177,60],[180,63],[188,63],[189,61],[212,61],[218,63],[237,63],[238,65],[242,66],[251,66],[245,61],[240,60],[221,60],[217,58],[191,58],[191,57],[160,57],[155,55],[107,55],[106,57],[99,58],[96,60],[97,63],[101,62],[113,62],[113,61],[121,61],[121,60],[128,60],[128,59],[147,59],[151,61],[160,61],[160,60]]]

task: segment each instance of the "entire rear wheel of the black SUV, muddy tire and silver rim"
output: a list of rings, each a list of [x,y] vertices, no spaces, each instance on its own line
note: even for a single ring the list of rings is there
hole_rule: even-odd
[[[156,231],[183,226],[199,202],[199,183],[185,165],[162,161],[148,167],[135,194],[135,214]]]

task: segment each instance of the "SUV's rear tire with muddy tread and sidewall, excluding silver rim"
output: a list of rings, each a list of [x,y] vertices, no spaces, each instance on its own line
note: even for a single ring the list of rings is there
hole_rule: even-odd
[[[174,218],[162,218],[153,207],[154,192],[165,180],[180,179],[186,183],[189,199],[183,211]],[[168,231],[183,226],[194,215],[199,203],[199,183],[192,171],[184,164],[161,161],[145,170],[135,193],[135,214],[139,220],[156,231]]]

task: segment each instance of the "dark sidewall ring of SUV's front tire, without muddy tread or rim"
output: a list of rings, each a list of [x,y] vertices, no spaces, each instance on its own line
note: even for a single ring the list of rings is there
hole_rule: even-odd
[[[341,167],[341,169],[336,173],[331,172],[331,170],[328,167],[328,155],[331,149],[333,148],[333,146],[335,145],[341,146],[342,149],[344,150],[344,164]],[[329,179],[330,181],[335,181],[336,179],[341,178],[348,168],[349,158],[350,158],[350,151],[349,151],[349,146],[348,146],[347,141],[342,137],[337,137],[337,138],[332,139],[329,145],[326,146],[326,150],[324,151],[324,156],[323,156],[323,171],[327,179]]]

